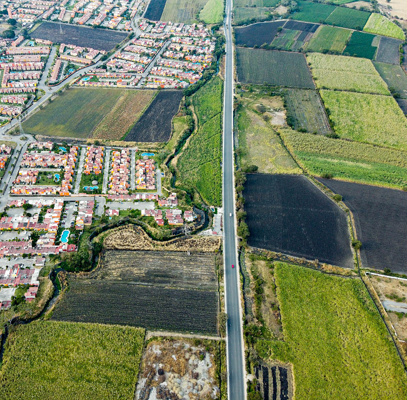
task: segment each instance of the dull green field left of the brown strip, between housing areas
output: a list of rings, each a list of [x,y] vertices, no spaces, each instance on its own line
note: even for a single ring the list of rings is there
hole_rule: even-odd
[[[86,138],[122,94],[122,89],[69,88],[22,127],[33,135]]]

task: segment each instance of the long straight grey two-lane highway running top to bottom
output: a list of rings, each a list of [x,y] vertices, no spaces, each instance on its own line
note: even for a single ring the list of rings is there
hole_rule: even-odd
[[[233,44],[231,33],[231,0],[226,0],[226,17],[223,28],[226,36],[226,67],[223,109],[223,215],[225,264],[225,302],[227,322],[227,391],[229,400],[246,398],[244,368],[244,348],[242,312],[240,303],[240,277],[238,265],[236,216],[235,216],[235,176],[233,148]],[[229,217],[229,215],[232,215]],[[235,268],[232,268],[232,264]]]

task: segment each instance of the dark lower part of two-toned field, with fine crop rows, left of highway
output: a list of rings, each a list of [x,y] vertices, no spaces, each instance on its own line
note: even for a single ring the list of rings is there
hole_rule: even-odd
[[[52,319],[216,334],[217,313],[215,291],[73,280]]]

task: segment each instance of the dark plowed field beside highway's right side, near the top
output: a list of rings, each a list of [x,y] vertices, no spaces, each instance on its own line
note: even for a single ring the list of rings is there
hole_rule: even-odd
[[[235,28],[237,45],[247,45],[253,47],[261,46],[264,43],[270,44],[277,34],[279,26],[283,26],[286,21],[260,22],[243,28]]]

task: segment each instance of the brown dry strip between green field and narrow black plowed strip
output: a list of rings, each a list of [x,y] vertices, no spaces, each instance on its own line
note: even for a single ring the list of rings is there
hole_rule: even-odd
[[[154,99],[153,90],[126,90],[92,133],[94,139],[121,139]]]

